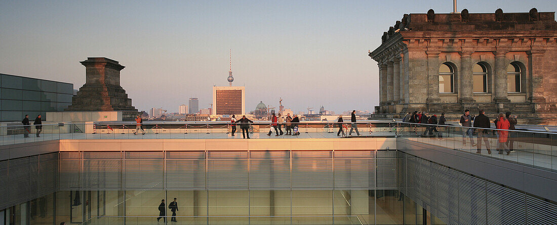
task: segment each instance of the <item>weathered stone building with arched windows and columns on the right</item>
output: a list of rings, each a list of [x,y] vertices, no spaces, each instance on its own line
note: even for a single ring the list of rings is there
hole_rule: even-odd
[[[547,123],[557,112],[556,42],[555,12],[535,8],[404,14],[369,53],[379,67],[375,111],[457,116],[484,109]]]

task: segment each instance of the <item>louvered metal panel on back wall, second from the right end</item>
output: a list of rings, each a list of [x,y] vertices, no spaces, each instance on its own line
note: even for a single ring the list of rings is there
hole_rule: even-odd
[[[335,151],[335,189],[374,189],[373,151]]]

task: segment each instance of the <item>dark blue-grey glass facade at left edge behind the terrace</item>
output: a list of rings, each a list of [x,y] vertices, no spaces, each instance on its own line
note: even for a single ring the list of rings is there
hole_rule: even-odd
[[[74,84],[0,74],[0,121],[30,120],[71,105]]]

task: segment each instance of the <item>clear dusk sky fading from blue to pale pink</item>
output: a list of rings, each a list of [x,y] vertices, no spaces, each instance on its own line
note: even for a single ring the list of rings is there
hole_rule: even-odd
[[[557,1],[458,1],[458,11],[554,12]],[[209,108],[212,86],[246,86],[246,113],[278,100],[295,113],[341,113],[379,102],[368,51],[404,13],[452,12],[452,1],[0,0],[0,73],[85,83],[87,57],[119,61],[140,111]]]

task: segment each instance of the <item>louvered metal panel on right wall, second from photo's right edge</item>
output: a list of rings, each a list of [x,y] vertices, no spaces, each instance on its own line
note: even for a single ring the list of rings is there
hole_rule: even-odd
[[[526,224],[525,193],[487,183],[487,224]]]

